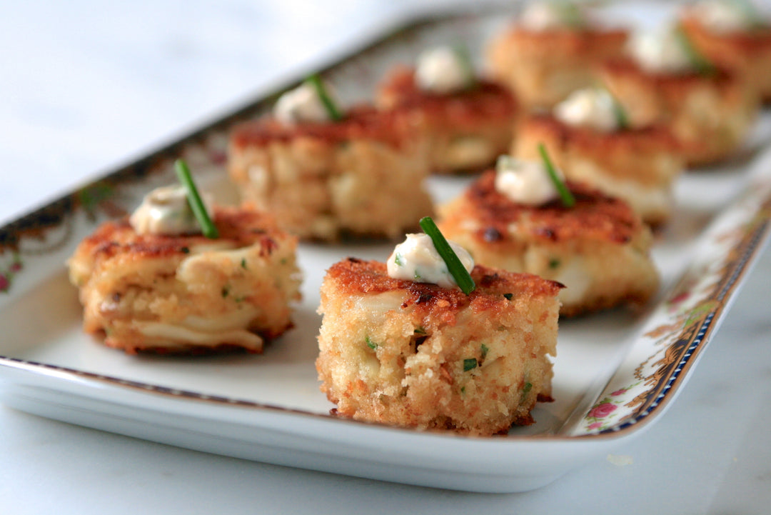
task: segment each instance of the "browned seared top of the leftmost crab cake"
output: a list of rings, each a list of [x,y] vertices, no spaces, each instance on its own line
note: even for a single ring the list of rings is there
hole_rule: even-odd
[[[232,247],[259,244],[264,252],[270,254],[276,247],[275,240],[286,237],[271,217],[250,208],[217,207],[213,221],[220,233],[215,240],[202,234],[136,234],[127,218],[108,221],[82,241],[76,258],[85,258],[86,254],[100,258],[109,258],[115,254],[133,254],[137,258],[167,258],[176,254],[189,254],[191,248],[212,244],[230,244]]]

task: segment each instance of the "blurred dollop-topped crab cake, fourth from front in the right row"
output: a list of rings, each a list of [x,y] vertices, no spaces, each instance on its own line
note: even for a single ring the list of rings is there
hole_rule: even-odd
[[[679,29],[636,35],[631,54],[605,62],[602,76],[633,126],[668,126],[689,166],[725,159],[742,143],[759,98],[736,73],[705,62]]]

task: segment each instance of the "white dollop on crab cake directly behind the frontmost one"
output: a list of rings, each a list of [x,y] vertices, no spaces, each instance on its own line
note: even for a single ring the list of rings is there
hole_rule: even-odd
[[[556,171],[557,177],[564,180],[562,172]],[[560,196],[543,163],[510,156],[498,158],[495,189],[512,202],[530,206],[546,204]]]

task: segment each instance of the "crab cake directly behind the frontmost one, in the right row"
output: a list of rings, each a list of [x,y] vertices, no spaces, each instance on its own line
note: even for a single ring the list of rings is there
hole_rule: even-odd
[[[560,315],[648,301],[658,289],[648,226],[623,200],[579,183],[567,182],[573,207],[548,200],[552,194],[534,197],[549,189],[536,184],[534,174],[545,175],[536,164],[520,165],[520,177],[484,173],[443,206],[439,227],[446,237],[466,247],[477,263],[564,284]],[[512,187],[522,187],[522,200],[500,191]]]

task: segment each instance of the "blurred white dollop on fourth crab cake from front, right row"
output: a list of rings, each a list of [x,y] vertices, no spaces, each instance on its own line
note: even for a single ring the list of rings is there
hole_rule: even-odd
[[[628,50],[647,72],[683,73],[694,69],[692,57],[675,27],[635,32],[629,39]]]

